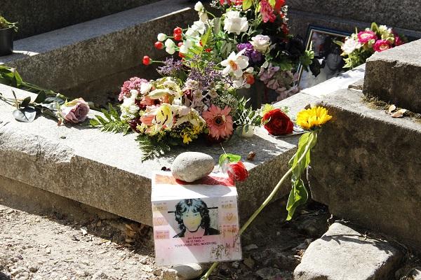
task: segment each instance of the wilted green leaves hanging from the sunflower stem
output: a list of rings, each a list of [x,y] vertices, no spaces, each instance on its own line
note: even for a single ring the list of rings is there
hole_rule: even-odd
[[[287,221],[290,221],[290,219],[293,218],[295,209],[297,209],[298,206],[305,204],[308,200],[309,194],[301,179],[301,175],[310,164],[310,151],[314,145],[316,145],[316,142],[316,131],[302,134],[300,141],[298,142],[298,151],[288,162],[290,169],[292,169],[292,190],[290,191],[288,203],[286,204],[286,209],[288,210]]]

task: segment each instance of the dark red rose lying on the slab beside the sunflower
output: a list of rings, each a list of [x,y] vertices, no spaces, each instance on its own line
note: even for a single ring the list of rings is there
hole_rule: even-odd
[[[274,136],[293,133],[294,124],[281,109],[274,109],[265,113],[262,123],[265,123],[266,130]]]

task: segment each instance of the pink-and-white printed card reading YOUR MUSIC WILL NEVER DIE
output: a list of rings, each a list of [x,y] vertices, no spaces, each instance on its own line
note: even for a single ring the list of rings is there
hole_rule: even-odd
[[[156,172],[151,198],[157,265],[241,260],[237,193],[224,174],[185,183]]]

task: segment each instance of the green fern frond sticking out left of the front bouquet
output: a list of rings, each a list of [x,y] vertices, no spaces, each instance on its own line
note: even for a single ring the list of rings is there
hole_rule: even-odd
[[[130,132],[130,126],[127,121],[120,119],[119,113],[111,103],[109,103],[108,106],[108,111],[101,109],[104,117],[95,115],[95,118],[89,121],[91,126],[100,127],[100,130],[103,132],[123,133],[125,135],[128,134],[128,132]]]

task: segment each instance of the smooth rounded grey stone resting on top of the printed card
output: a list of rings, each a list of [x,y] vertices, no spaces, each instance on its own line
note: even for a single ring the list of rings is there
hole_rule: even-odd
[[[175,179],[194,182],[208,176],[215,167],[215,162],[206,153],[186,152],[175,158],[171,172]]]

